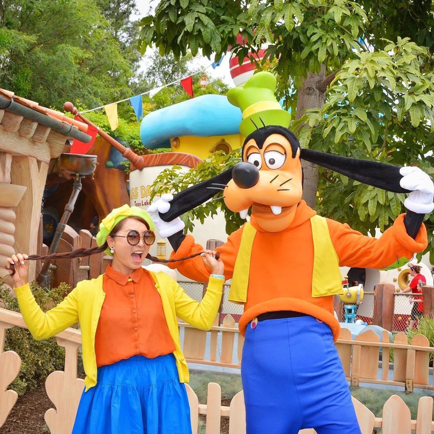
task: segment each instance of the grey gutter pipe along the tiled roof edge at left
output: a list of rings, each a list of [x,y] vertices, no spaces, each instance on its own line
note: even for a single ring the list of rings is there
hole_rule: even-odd
[[[89,143],[89,141],[92,139],[90,135],[78,130],[77,128],[74,128],[72,125],[67,125],[64,122],[60,122],[49,117],[48,115],[36,112],[36,110],[29,109],[24,105],[17,104],[13,101],[13,97],[12,99],[7,99],[0,95],[0,109],[7,110],[9,112],[15,113],[16,115],[23,116],[26,119],[38,122],[39,124],[45,125],[46,127],[49,127],[58,133],[64,134],[68,137],[76,138],[77,140],[84,143]]]

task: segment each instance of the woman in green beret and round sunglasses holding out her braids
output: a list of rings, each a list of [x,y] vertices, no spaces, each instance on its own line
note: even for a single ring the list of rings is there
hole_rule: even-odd
[[[224,265],[213,251],[201,253],[211,270],[201,302],[191,299],[165,273],[141,267],[155,241],[149,214],[124,205],[99,225],[97,248],[48,258],[113,255],[105,274],[84,280],[44,313],[27,282],[27,260],[47,256],[21,253],[7,259],[20,310],[35,339],[46,339],[76,322],[82,332],[85,390],[72,434],[189,434],[189,380],[181,351],[177,316],[210,329],[220,305]],[[183,258],[188,259],[188,258]]]

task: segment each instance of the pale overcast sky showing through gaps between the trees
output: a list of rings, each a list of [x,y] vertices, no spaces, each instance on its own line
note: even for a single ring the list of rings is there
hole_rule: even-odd
[[[137,0],[137,9],[138,9],[138,18],[143,18],[144,16],[149,15],[149,13],[154,13],[155,7],[158,5],[159,0]],[[149,48],[147,53],[149,53]],[[214,61],[214,55],[211,56],[211,60],[208,60],[206,57],[197,55],[194,60],[194,69],[200,69],[202,67],[206,67],[210,65]],[[141,62],[141,68],[146,69],[146,59]],[[220,66],[217,66],[216,69],[208,68],[206,71],[207,76],[211,76],[213,78],[222,79],[227,85],[233,87],[232,77],[229,72],[229,55],[227,54]],[[193,79],[199,80],[200,76],[194,76]]]

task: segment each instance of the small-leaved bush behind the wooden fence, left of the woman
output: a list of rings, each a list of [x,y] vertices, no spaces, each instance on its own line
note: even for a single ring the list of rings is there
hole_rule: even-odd
[[[36,302],[46,312],[63,300],[70,287],[62,283],[46,292],[36,283],[32,283],[31,289]],[[17,299],[11,296],[1,280],[0,297],[6,309],[20,312]],[[56,338],[36,341],[27,329],[13,327],[6,330],[4,351],[9,350],[15,351],[21,358],[20,374],[10,385],[18,395],[34,390],[51,372],[65,368],[65,349],[57,345]]]

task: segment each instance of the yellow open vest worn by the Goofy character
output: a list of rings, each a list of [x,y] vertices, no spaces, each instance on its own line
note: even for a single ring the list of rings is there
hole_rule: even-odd
[[[330,296],[342,293],[342,276],[339,258],[330,238],[327,220],[319,215],[310,218],[314,248],[312,297]],[[242,304],[247,301],[249,286],[250,257],[256,229],[248,222],[244,224],[240,248],[233,268],[229,301]]]

